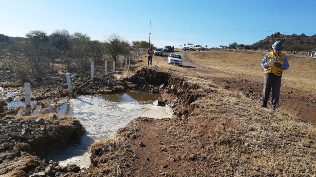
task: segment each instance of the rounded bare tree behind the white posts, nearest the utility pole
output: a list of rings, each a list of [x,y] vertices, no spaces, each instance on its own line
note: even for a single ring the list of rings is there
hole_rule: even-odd
[[[120,56],[129,53],[127,40],[119,34],[112,34],[104,40],[106,53],[110,54],[114,61]]]

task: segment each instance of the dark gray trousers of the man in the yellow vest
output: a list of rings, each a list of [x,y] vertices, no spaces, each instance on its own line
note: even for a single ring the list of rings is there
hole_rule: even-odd
[[[272,87],[272,104],[278,106],[282,76],[264,73],[262,103],[267,104]]]

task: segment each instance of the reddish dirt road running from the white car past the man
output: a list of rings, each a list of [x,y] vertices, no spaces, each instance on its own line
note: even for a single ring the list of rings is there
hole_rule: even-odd
[[[247,80],[240,76],[214,69],[214,66],[202,66],[194,60],[190,59],[188,57],[188,52],[191,51],[179,50],[173,52],[181,55],[181,57],[183,58],[183,68],[185,68],[187,71],[194,72],[198,77],[201,77],[203,79],[219,83],[224,88],[240,90],[240,92],[243,92],[246,95],[253,96],[254,101],[261,101],[263,90],[263,71],[262,81],[258,81],[255,79]],[[167,58],[170,54],[171,52],[164,52],[164,55],[162,57],[155,56],[153,60],[154,62],[155,60],[158,60],[160,62],[167,63]],[[172,65],[165,66],[173,70],[176,68]],[[271,109],[272,105],[270,105],[269,107]],[[287,111],[290,111],[301,120],[316,125],[316,97],[308,91],[304,91],[303,89],[298,89],[294,87],[281,86],[280,108],[287,109]]]

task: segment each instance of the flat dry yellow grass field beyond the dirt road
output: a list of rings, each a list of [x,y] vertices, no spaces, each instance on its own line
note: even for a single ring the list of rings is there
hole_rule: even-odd
[[[224,71],[240,78],[263,81],[262,54],[235,52],[187,52],[189,58],[201,66]],[[282,85],[304,89],[315,93],[316,60],[308,57],[288,56],[290,68],[284,71]]]

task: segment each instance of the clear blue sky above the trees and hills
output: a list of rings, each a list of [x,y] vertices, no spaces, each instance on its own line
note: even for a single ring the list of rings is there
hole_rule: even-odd
[[[24,37],[32,30],[51,33],[64,28],[70,33],[87,33],[100,41],[111,33],[119,33],[129,41],[148,41],[149,21],[151,42],[155,41],[158,47],[184,43],[208,47],[233,42],[252,44],[278,31],[316,34],[316,3],[312,0],[0,0],[0,4],[0,33],[8,36]]]

